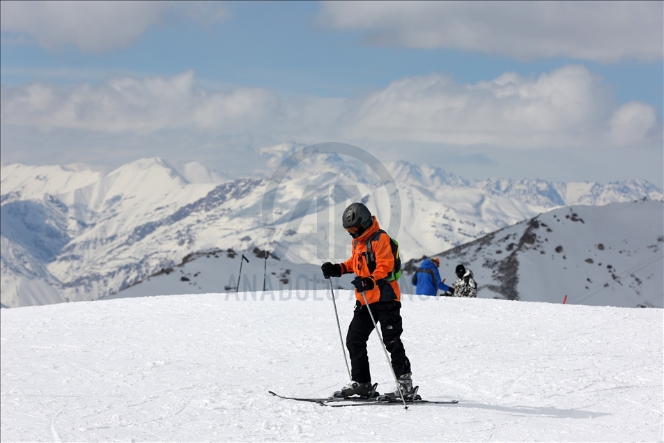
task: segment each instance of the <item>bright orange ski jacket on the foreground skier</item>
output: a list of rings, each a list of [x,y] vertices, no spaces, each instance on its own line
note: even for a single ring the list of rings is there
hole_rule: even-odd
[[[366,260],[366,242],[371,238],[371,235],[376,233],[380,226],[378,220],[373,215],[373,224],[371,228],[364,231],[358,238],[353,239],[353,255],[341,263],[341,272],[343,274],[350,274],[355,272],[360,277],[371,277],[376,283],[376,286],[371,290],[367,290],[366,301],[369,304],[376,302],[392,302],[394,300],[401,300],[401,291],[399,290],[399,283],[396,280],[387,281],[387,277],[394,268],[394,255],[392,255],[392,246],[390,245],[389,235],[381,234],[378,240],[373,240],[371,248],[373,254],[376,256],[376,270],[371,272],[367,266]],[[355,298],[364,304],[362,293],[355,291]]]

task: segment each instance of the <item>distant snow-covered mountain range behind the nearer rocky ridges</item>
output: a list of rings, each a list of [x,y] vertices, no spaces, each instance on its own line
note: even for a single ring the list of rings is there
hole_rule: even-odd
[[[663,198],[660,189],[638,180],[470,183],[429,166],[385,166],[401,203],[399,232],[390,234],[406,259],[464,244],[560,205]],[[398,225],[390,219],[395,195],[387,194],[369,166],[341,155],[300,162],[279,182],[274,207],[263,208],[273,183],[261,177],[224,181],[201,164],[173,166],[160,158],[107,173],[81,165],[3,165],[2,304],[96,300],[185,256],[214,249],[266,249],[293,265],[339,261],[348,256],[349,244],[337,226],[339,216],[357,199],[384,228]]]

